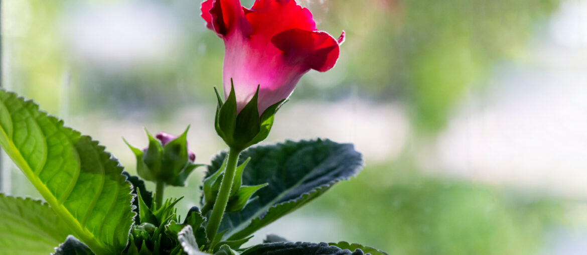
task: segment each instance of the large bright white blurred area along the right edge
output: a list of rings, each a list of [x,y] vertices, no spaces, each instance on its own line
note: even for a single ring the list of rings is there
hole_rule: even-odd
[[[548,28],[528,62],[470,93],[438,139],[440,171],[587,198],[587,1],[564,2]]]

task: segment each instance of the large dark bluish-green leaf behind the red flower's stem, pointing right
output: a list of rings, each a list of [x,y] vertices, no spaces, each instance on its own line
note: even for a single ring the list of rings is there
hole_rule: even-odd
[[[226,153],[212,160],[207,175],[220,169]],[[227,213],[219,231],[230,229],[229,240],[243,239],[279,217],[310,202],[340,180],[355,176],[363,160],[353,145],[330,140],[311,140],[258,146],[245,150],[240,163],[251,157],[245,167],[242,184],[259,189],[239,212]],[[238,176],[237,176],[238,178]]]

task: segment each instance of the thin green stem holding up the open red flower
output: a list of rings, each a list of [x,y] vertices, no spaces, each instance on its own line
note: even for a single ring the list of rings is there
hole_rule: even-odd
[[[230,149],[228,153],[228,162],[226,170],[224,172],[224,178],[222,178],[222,184],[220,185],[220,191],[214,202],[214,208],[208,220],[206,226],[206,234],[210,240],[214,239],[214,235],[218,232],[226,204],[228,203],[228,197],[230,196],[230,189],[232,187],[232,180],[234,179],[234,172],[237,170],[238,156],[241,153],[240,150]]]

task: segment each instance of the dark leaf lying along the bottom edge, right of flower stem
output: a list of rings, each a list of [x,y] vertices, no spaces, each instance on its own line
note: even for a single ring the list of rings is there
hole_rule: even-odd
[[[326,243],[264,243],[250,247],[241,255],[272,255],[272,254],[295,254],[295,255],[361,255],[362,251],[351,252],[342,250],[336,246],[328,246]]]

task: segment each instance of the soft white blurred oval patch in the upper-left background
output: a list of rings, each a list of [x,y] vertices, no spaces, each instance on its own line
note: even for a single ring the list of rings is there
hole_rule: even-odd
[[[154,1],[80,2],[65,13],[63,38],[82,63],[124,68],[165,61],[181,39],[172,10]]]

